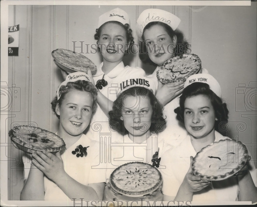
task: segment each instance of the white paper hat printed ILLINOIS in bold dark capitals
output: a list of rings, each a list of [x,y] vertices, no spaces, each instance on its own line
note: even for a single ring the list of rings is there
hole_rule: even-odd
[[[145,76],[135,76],[130,77],[130,79],[124,79],[119,83],[119,89],[117,91],[117,96],[127,90],[128,88],[132,87],[144,87],[152,90],[153,94],[156,92],[156,84],[153,79],[147,78]]]

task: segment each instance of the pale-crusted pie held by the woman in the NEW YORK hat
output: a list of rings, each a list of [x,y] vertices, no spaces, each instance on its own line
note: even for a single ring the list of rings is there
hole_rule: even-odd
[[[250,158],[246,146],[240,141],[220,140],[196,154],[192,172],[203,180],[224,180],[240,171]]]

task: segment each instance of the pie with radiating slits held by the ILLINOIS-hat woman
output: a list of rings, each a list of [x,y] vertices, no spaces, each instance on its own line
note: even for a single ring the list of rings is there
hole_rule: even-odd
[[[109,182],[118,193],[138,197],[157,190],[162,184],[162,176],[152,165],[131,162],[116,168]]]

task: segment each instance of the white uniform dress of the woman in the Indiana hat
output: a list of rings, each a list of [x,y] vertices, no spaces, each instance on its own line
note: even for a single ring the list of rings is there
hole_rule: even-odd
[[[148,78],[152,78],[156,84],[156,89],[158,88],[158,79],[157,79],[157,70],[159,66],[154,70],[154,72],[148,76]],[[208,73],[205,68],[202,68],[199,73]],[[162,137],[164,137],[165,141],[172,145],[177,146],[182,142],[182,140],[188,135],[185,127],[180,123],[179,120],[176,119],[176,113],[174,109],[179,107],[179,96],[175,99],[171,100],[164,106],[163,115],[166,116],[166,130],[160,133]]]

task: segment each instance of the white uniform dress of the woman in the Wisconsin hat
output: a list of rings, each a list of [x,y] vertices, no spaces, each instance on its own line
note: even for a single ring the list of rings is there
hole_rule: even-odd
[[[88,155],[85,157],[76,157],[71,152],[75,150],[78,145],[83,147],[89,146],[87,149]],[[65,172],[83,185],[89,183],[102,183],[105,182],[105,169],[92,169],[99,163],[99,144],[89,139],[86,135],[82,134],[79,140],[66,150],[61,150],[61,158]],[[24,179],[26,180],[29,171],[30,163],[29,158],[23,156],[24,163]],[[69,186],[67,186],[69,187]],[[71,199],[51,180],[44,176],[44,200],[62,200],[70,201]]]

